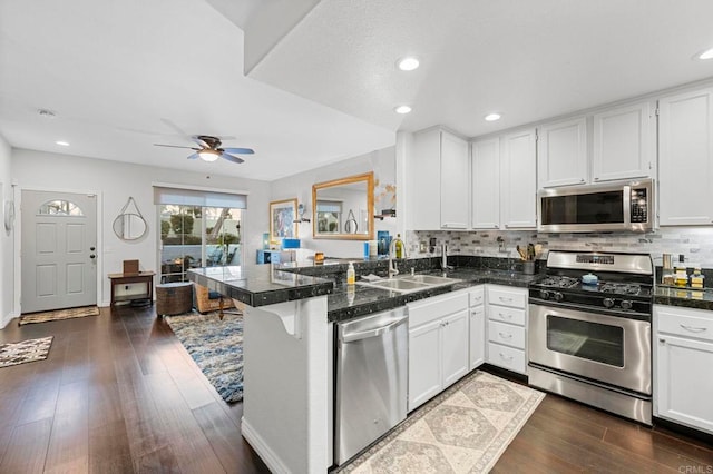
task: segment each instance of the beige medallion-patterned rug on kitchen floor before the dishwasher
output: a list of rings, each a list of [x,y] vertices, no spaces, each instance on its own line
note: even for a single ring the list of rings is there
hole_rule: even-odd
[[[487,473],[545,394],[476,372],[411,414],[343,473]]]

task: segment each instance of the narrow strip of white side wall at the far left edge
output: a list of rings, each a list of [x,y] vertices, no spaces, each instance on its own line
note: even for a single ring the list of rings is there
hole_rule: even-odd
[[[4,217],[4,203],[12,199],[12,160],[11,149],[7,140],[0,135],[0,214]],[[4,220],[4,219],[2,219]],[[6,231],[0,224],[0,328],[4,327],[13,317],[12,302],[14,300],[14,277],[12,266],[14,249],[14,236],[12,231]]]

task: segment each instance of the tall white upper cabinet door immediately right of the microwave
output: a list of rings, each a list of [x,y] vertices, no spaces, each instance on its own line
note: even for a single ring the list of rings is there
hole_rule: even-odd
[[[713,223],[713,88],[658,101],[662,226]]]

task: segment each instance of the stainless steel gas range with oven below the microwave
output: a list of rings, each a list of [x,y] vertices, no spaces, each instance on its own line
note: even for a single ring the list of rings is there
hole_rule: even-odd
[[[529,383],[651,425],[648,254],[550,250],[529,287]]]

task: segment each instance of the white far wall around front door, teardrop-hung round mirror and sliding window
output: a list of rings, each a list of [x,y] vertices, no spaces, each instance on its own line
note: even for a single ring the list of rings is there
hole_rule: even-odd
[[[62,190],[70,192],[94,191],[99,196],[98,274],[100,277],[99,304],[109,304],[107,274],[120,273],[125,259],[139,259],[141,269],[158,273],[157,215],[152,185],[156,182],[201,186],[247,192],[247,209],[241,224],[241,235],[246,248],[247,261],[254,259],[262,247],[262,233],[267,231],[267,203],[270,184],[251,179],[174,170],[124,164],[69,155],[13,149],[12,176],[19,189]],[[7,192],[7,189],[6,189]],[[123,241],[111,229],[129,196],[148,221],[148,233],[139,240]],[[20,225],[20,223],[18,223]],[[21,228],[20,228],[21,231]],[[18,241],[20,241],[18,237]],[[4,247],[4,246],[3,246]],[[19,268],[14,282],[19,286]],[[4,289],[3,285],[3,289]]]

